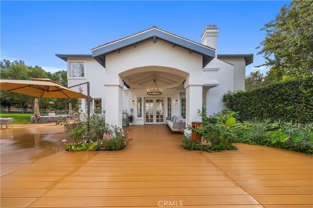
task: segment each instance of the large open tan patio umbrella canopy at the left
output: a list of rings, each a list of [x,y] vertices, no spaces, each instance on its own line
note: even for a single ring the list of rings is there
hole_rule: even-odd
[[[40,98],[82,98],[78,92],[50,79],[0,80],[0,90],[31,95]]]

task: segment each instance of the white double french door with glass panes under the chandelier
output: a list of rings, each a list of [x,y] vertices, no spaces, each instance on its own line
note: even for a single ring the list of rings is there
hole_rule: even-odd
[[[164,98],[145,98],[145,124],[164,124]]]

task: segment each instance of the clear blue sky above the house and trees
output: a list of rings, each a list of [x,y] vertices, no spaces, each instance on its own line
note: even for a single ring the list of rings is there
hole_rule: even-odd
[[[254,54],[246,74],[264,62],[255,49],[260,31],[290,1],[3,1],[1,60],[22,60],[46,71],[66,69],[55,54],[91,54],[91,48],[153,25],[201,42],[206,24],[217,24],[219,54]]]

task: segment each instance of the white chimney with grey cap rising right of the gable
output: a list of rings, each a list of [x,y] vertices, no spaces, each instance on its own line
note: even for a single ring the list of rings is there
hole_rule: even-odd
[[[216,24],[206,25],[201,36],[202,44],[217,49],[217,36],[219,32],[220,29],[217,28]]]

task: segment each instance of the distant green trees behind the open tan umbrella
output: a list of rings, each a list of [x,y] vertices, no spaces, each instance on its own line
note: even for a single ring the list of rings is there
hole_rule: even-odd
[[[53,74],[46,72],[40,66],[27,66],[23,61],[10,62],[9,60],[2,60],[0,62],[0,75],[3,80],[29,80],[32,78],[48,78],[58,83],[67,86],[67,72],[65,70],[57,71]],[[19,107],[27,107],[27,105],[34,105],[35,97],[23,95],[14,92],[1,91],[0,104],[2,107],[9,107],[17,105]],[[76,99],[62,99],[62,98],[41,98],[40,107],[48,107],[48,102],[54,101],[54,109],[67,109],[69,103],[76,105]]]

